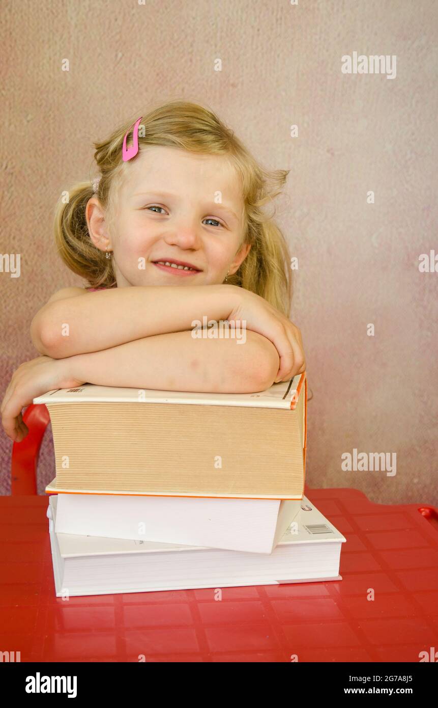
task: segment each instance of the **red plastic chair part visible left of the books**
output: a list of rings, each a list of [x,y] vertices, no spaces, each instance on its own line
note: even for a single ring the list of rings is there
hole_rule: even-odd
[[[30,404],[23,421],[28,426],[28,435],[12,445],[11,495],[24,496],[37,493],[37,465],[45,430],[50,423],[45,404]]]

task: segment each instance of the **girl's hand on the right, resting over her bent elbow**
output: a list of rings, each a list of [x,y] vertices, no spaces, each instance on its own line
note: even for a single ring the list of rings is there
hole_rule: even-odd
[[[247,329],[263,334],[279,353],[279,370],[275,383],[288,381],[306,370],[301,331],[287,317],[260,295],[236,287],[237,303],[227,318],[229,321],[246,320]]]

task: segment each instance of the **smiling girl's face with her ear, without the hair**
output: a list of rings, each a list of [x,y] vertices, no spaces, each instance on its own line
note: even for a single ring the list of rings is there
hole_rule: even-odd
[[[114,212],[109,228],[96,198],[86,208],[93,244],[113,251],[117,287],[219,284],[250,249],[241,246],[243,199],[224,156],[142,149],[126,165]]]

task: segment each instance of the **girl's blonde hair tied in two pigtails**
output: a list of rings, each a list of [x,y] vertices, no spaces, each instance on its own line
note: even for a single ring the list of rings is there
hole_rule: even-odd
[[[113,222],[118,188],[127,165],[129,169],[129,162],[122,161],[123,138],[135,120],[119,127],[108,139],[93,143],[100,173],[97,193],[93,192],[91,181],[80,182],[69,190],[69,202],[59,200],[56,207],[54,238],[59,254],[70,270],[85,278],[91,287],[115,287],[117,282],[113,258],[106,258],[105,252],[97,249],[90,239],[86,205],[96,196],[108,215],[109,224]],[[282,191],[289,170],[263,169],[212,110],[186,101],[164,103],[143,116],[139,126],[139,149],[147,145],[228,157],[240,178],[243,195],[241,245],[251,247],[227,282],[255,292],[288,317],[292,301],[289,249],[273,215],[267,215],[263,207]]]

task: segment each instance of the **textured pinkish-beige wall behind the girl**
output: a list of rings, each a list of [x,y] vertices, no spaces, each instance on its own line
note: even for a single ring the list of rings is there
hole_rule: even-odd
[[[438,273],[418,269],[438,253],[436,2],[25,0],[2,14],[0,251],[21,253],[21,276],[0,273],[1,396],[37,355],[33,314],[83,285],[54,251],[52,212],[94,175],[92,141],[149,101],[199,101],[266,166],[290,169],[279,219],[299,258],[292,320],[313,393],[306,481],[438,503]],[[396,55],[396,78],[342,74],[353,52]],[[0,445],[8,493],[2,431]],[[353,448],[396,452],[396,475],[343,472]],[[50,431],[39,474],[41,493]]]

